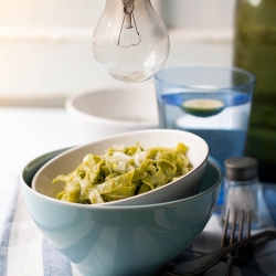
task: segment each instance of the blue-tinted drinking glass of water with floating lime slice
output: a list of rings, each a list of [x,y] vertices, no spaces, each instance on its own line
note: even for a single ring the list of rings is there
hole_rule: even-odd
[[[255,76],[237,67],[189,65],[161,70],[155,84],[160,127],[202,137],[224,174],[224,160],[244,153]]]

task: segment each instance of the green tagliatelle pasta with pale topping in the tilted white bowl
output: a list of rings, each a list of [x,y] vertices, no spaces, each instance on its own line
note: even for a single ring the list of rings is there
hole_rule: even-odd
[[[96,204],[121,200],[162,187],[183,174],[192,166],[179,142],[176,148],[144,149],[114,145],[103,156],[88,153],[67,176],[57,176],[52,182],[65,183],[56,199],[74,203]]]

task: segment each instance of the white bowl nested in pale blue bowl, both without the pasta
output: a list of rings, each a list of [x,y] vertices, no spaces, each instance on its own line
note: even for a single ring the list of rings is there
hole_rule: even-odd
[[[145,148],[183,142],[192,170],[153,191],[114,202],[78,204],[55,199],[63,187],[51,180],[70,173],[85,155],[136,142]],[[21,187],[39,230],[81,275],[155,276],[192,244],[215,209],[221,172],[208,155],[205,141],[190,132],[129,131],[38,157],[23,168]]]

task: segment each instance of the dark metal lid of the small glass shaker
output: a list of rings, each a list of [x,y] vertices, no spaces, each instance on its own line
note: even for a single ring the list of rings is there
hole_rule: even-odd
[[[252,157],[231,157],[224,161],[229,180],[247,181],[257,177],[258,161]]]

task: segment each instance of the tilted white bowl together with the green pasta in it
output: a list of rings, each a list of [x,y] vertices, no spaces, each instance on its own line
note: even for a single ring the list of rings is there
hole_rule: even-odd
[[[38,171],[32,188],[83,204],[172,201],[198,192],[208,153],[205,141],[190,132],[132,131],[65,151]]]

